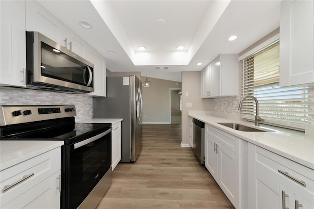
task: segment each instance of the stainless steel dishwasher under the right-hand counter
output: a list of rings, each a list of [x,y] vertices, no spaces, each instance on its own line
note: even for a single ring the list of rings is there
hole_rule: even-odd
[[[193,118],[193,151],[201,164],[204,164],[205,123]]]

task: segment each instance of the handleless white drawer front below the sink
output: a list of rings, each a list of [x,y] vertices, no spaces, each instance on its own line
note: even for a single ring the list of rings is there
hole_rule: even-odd
[[[231,150],[236,155],[241,156],[241,139],[209,125],[206,125],[206,131],[219,138],[219,143],[221,143],[224,147]]]

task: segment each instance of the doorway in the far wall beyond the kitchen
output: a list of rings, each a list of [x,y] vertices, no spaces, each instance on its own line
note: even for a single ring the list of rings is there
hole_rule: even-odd
[[[170,89],[170,123],[181,124],[182,93],[181,89]]]

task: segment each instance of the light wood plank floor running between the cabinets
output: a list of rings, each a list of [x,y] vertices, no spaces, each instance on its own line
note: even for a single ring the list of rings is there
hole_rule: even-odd
[[[193,154],[182,148],[181,124],[143,125],[134,163],[119,163],[97,209],[233,209]]]

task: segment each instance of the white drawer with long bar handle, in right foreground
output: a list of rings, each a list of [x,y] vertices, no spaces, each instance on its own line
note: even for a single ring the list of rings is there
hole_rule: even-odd
[[[256,147],[255,157],[256,168],[296,193],[308,197],[306,199],[313,199],[314,170],[260,147]],[[280,171],[286,172],[287,175]],[[304,181],[306,185],[303,186],[297,181]]]

